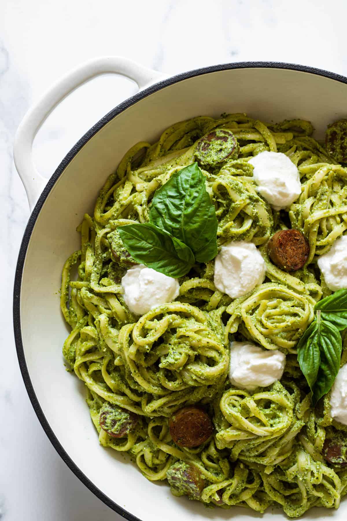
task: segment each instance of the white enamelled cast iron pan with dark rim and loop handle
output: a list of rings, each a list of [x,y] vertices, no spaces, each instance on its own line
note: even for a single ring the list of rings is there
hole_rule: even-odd
[[[38,128],[63,97],[106,72],[133,79],[140,92],[89,130],[46,184],[32,160]],[[57,291],[63,263],[79,249],[76,226],[85,212],[93,211],[101,185],[128,148],[137,141],[157,140],[176,121],[223,112],[246,112],[264,121],[304,118],[312,121],[316,137],[321,138],[328,123],[346,117],[346,99],[347,78],[309,67],[236,63],[166,79],[130,60],[103,57],[60,80],[24,117],[14,157],[32,214],[19,252],[14,291],[19,364],[35,412],[58,453],[89,489],[127,519],[233,517],[241,521],[260,515],[243,508],[205,508],[175,498],[168,486],[147,481],[121,454],[99,445],[83,384],[67,373],[61,354],[68,328],[59,311]],[[263,517],[270,516],[274,521],[285,518],[268,509]],[[305,515],[321,516],[344,520],[347,502],[338,511],[314,509]]]

